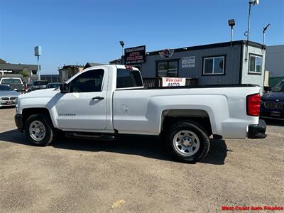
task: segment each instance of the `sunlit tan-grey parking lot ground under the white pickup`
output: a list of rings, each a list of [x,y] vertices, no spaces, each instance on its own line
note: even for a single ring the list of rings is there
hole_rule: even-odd
[[[221,212],[284,205],[284,122],[262,140],[214,140],[200,163],[152,137],[29,146],[0,109],[0,212]]]

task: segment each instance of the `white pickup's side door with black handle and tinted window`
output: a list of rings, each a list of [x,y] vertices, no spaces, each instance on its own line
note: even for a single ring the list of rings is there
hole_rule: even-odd
[[[69,92],[55,104],[60,129],[102,130],[107,127],[108,68],[82,72],[68,83]]]

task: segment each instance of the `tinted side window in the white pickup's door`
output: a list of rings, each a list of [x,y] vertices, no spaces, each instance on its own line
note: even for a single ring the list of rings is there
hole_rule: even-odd
[[[89,70],[78,75],[70,84],[70,92],[101,92],[104,70]]]

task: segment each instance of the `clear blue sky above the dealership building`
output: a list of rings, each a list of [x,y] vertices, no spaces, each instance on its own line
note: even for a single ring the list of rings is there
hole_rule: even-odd
[[[58,74],[63,65],[109,63],[125,48],[146,51],[226,42],[228,19],[233,40],[246,40],[249,0],[0,0],[0,58],[36,64],[41,45],[42,74]],[[284,44],[284,1],[259,0],[251,8],[250,40]]]

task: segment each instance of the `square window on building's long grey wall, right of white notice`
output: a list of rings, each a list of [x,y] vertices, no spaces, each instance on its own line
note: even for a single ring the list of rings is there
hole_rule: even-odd
[[[203,58],[203,75],[224,75],[225,56]]]

